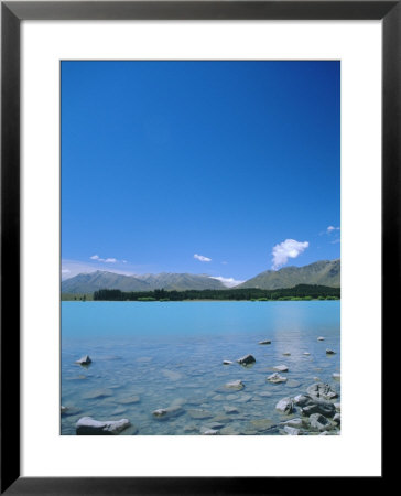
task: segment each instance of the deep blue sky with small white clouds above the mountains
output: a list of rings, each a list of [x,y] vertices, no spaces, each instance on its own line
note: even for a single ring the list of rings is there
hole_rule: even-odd
[[[62,62],[62,271],[339,258],[339,62]]]

